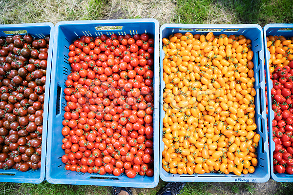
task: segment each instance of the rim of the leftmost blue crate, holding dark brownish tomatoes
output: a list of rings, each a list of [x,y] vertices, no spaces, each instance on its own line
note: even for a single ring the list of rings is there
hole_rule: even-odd
[[[41,164],[41,169],[39,169],[38,171],[32,171],[29,170],[28,172],[24,172],[27,174],[40,174],[39,178],[36,179],[32,179],[29,176],[27,177],[15,177],[15,176],[6,176],[6,175],[0,175],[0,179],[1,181],[5,181],[5,182],[21,182],[21,183],[41,183],[44,179],[45,179],[45,164],[46,164],[46,146],[47,146],[47,129],[48,129],[48,112],[45,112],[46,110],[49,110],[49,89],[50,89],[50,78],[51,78],[51,65],[52,65],[52,55],[53,55],[53,44],[54,44],[54,24],[51,22],[43,22],[43,23],[24,23],[24,24],[1,24],[0,25],[0,29],[6,30],[7,31],[16,31],[16,30],[26,30],[27,28],[30,27],[46,27],[49,26],[50,27],[50,43],[49,43],[49,52],[48,52],[48,59],[47,59],[47,74],[46,74],[46,83],[45,85],[47,86],[47,93],[45,93],[45,100],[44,100],[44,113],[46,113],[44,115],[44,117],[46,117],[45,120],[46,121],[46,129],[43,129],[43,133],[42,133],[42,164]],[[6,29],[5,29],[6,28]],[[22,34],[22,33],[21,33]],[[7,36],[10,34],[7,34]],[[43,122],[44,124],[44,122]],[[45,144],[44,144],[45,143]],[[3,172],[3,170],[1,170],[1,173]],[[14,174],[15,172],[17,173],[21,173],[20,171],[17,170],[5,170],[5,173],[12,173]],[[3,172],[4,173],[4,172]],[[4,173],[4,174],[5,174]],[[17,174],[16,174],[17,175]],[[5,179],[5,180],[3,180]]]

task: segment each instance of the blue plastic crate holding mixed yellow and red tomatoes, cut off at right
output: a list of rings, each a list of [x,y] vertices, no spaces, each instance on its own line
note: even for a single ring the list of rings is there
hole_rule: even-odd
[[[291,30],[285,30],[286,28],[291,28]],[[281,29],[281,30],[279,30]],[[270,52],[267,50],[267,38],[269,35],[272,36],[284,36],[286,39],[293,37],[293,24],[267,24],[263,28],[264,30],[264,52],[265,52],[265,70],[269,73],[269,59]],[[271,97],[272,80],[269,74],[266,74],[267,83],[266,87],[268,90],[268,97]],[[273,157],[272,153],[275,150],[275,143],[272,141],[272,120],[274,119],[274,113],[272,111],[272,98],[268,98],[268,118],[269,118],[269,148],[270,148],[270,164],[271,164],[271,176],[272,179],[279,182],[293,182],[293,175],[290,174],[278,174],[273,173]]]

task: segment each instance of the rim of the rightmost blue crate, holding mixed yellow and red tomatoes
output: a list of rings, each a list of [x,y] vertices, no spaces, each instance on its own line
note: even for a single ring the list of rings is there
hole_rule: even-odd
[[[270,53],[268,52],[267,50],[267,31],[270,29],[270,28],[293,28],[293,24],[267,24],[264,26],[263,28],[263,33],[264,33],[264,50],[265,50],[265,68],[266,68],[266,71],[269,70],[269,65],[268,65],[268,60],[270,58]],[[282,31],[278,31],[278,33],[276,35],[280,36],[282,35],[283,33],[285,32],[292,32],[292,36],[293,36],[293,31],[288,31],[288,30],[282,30]],[[272,89],[272,80],[266,76],[267,78],[267,91],[268,91],[268,97],[271,97],[271,89]],[[270,105],[270,106],[269,106]],[[270,149],[270,167],[271,167],[271,177],[273,180],[277,181],[277,182],[293,182],[293,176],[292,175],[289,175],[289,174],[275,174],[273,173],[273,151],[275,149],[275,144],[272,140],[272,120],[274,119],[273,116],[273,111],[272,111],[272,99],[271,98],[268,98],[268,109],[270,111],[270,114],[268,115],[268,119],[269,119],[269,149]],[[291,176],[291,177],[290,177]]]

